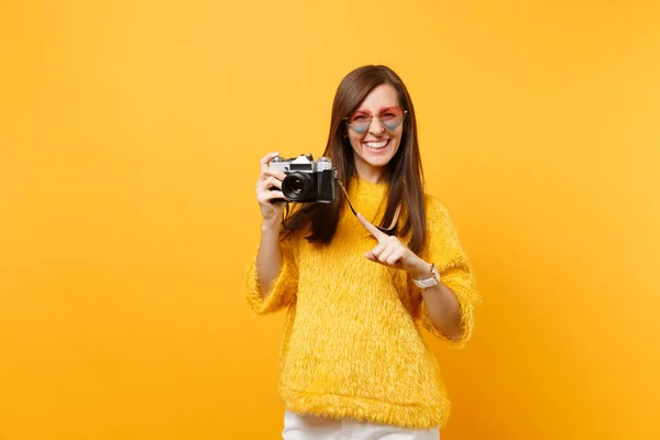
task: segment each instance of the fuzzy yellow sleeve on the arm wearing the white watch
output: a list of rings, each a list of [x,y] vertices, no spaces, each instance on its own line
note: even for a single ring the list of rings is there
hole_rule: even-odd
[[[461,312],[461,336],[455,340],[449,339],[433,326],[420,289],[409,280],[414,304],[419,304],[416,315],[424,328],[432,334],[451,346],[463,348],[472,337],[474,312],[481,302],[475,289],[472,265],[461,246],[449,210],[432,197],[427,198],[427,224],[428,241],[420,256],[438,267],[442,283],[457,295]]]

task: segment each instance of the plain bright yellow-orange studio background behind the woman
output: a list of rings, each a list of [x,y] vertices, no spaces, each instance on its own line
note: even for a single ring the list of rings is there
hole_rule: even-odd
[[[659,439],[659,54],[651,0],[0,1],[0,439],[278,438],[257,161],[367,63],[484,297],[442,438]]]

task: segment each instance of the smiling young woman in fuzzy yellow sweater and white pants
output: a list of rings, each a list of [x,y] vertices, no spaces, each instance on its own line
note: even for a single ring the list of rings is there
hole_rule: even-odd
[[[462,346],[479,295],[450,213],[424,193],[413,101],[392,69],[341,81],[323,155],[346,189],[333,204],[284,218],[277,153],[256,183],[246,298],[255,314],[287,310],[283,438],[438,439],[450,403],[418,323]]]

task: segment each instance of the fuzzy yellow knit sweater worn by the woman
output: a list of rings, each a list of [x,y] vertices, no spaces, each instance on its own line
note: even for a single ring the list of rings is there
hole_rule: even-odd
[[[378,220],[385,185],[354,179],[349,195],[367,220]],[[265,299],[256,255],[252,260],[246,276],[252,310],[287,310],[279,397],[289,410],[405,428],[444,426],[450,403],[418,324],[462,346],[472,333],[479,296],[450,213],[428,196],[427,224],[420,257],[436,264],[459,298],[463,333],[455,341],[432,326],[409,275],[364,257],[376,241],[349,209],[329,245],[310,244],[301,233],[282,242],[282,270]]]

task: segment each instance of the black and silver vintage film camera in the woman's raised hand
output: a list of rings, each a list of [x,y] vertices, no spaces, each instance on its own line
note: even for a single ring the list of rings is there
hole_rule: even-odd
[[[273,157],[271,168],[286,174],[282,180],[282,193],[288,201],[332,204],[337,169],[329,157],[315,161],[311,154],[296,158]]]

